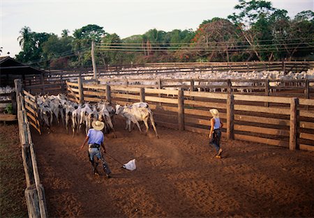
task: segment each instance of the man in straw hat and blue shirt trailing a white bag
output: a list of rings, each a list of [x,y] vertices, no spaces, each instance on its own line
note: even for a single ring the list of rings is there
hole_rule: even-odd
[[[103,147],[103,151],[104,153],[106,153],[105,145],[103,144],[103,140],[104,140],[103,132],[101,131],[103,130],[103,127],[105,127],[105,123],[99,120],[96,120],[96,121],[93,121],[91,125],[93,126],[93,128],[89,129],[89,132],[87,133],[87,137],[85,138],[84,143],[81,146],[81,149],[84,148],[85,143],[87,143],[88,141],[89,142],[89,152],[88,152],[89,161],[91,162],[91,166],[94,169],[94,174],[99,175],[97,171],[98,162],[96,162],[96,159],[94,158],[96,156],[98,159],[103,160],[103,169],[107,175],[107,178],[111,178],[110,168],[100,153],[100,146]]]

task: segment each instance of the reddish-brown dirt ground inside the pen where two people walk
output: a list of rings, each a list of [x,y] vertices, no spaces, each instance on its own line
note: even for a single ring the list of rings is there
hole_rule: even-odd
[[[33,132],[40,179],[50,217],[314,217],[314,153],[222,139],[214,157],[207,136],[158,126],[144,136],[124,130],[105,137],[119,162],[137,169],[94,176],[84,134],[74,138],[53,127]],[[143,127],[144,129],[144,127]],[[100,169],[100,166],[98,166]]]

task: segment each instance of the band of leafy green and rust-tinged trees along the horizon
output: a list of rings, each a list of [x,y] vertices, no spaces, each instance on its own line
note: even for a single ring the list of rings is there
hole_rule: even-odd
[[[314,13],[294,19],[269,1],[239,0],[227,18],[204,20],[196,31],[150,29],[121,39],[103,27],[88,24],[64,29],[61,37],[35,33],[24,26],[17,38],[22,52],[17,61],[40,67],[91,66],[91,42],[96,42],[97,65],[172,61],[282,61],[313,55]]]

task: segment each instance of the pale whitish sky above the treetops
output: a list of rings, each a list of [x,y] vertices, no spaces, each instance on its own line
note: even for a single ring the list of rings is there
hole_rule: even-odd
[[[227,18],[238,0],[0,0],[0,56],[15,57],[21,51],[17,38],[24,26],[36,33],[72,35],[88,24],[103,27],[120,38],[144,34],[149,29],[172,31],[193,29],[203,20]],[[314,10],[313,0],[273,0],[274,8],[290,17]]]

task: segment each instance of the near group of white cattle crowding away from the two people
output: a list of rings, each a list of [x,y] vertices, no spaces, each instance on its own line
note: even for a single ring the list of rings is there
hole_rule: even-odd
[[[29,98],[25,95],[24,98]],[[29,100],[31,100],[29,98]],[[98,102],[96,104],[84,103],[77,104],[66,98],[66,95],[36,95],[36,102],[39,107],[40,124],[50,127],[53,123],[62,123],[66,127],[68,134],[69,126],[72,128],[73,137],[75,134],[82,132],[84,128],[85,134],[92,127],[94,120],[100,120],[105,123],[103,132],[105,134],[113,132],[114,137],[114,116],[120,115],[126,120],[126,130],[131,131],[131,123],[135,123],[142,132],[139,121],[144,121],[146,133],[149,130],[148,120],[154,127],[156,137],[158,137],[154,117],[149,104],[146,102],[137,102],[126,106],[117,104],[112,106],[108,102]]]

